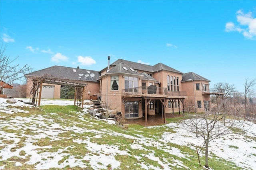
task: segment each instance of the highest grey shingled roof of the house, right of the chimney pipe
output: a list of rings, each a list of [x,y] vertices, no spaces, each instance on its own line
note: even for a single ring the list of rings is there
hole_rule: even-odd
[[[168,71],[178,72],[178,73],[183,74],[182,72],[175,70],[174,68],[171,68],[163,63],[158,63],[158,64],[155,64],[154,66],[151,66],[151,65],[147,65],[147,64],[141,64],[141,63],[136,63],[136,62],[127,61],[127,60],[123,60],[123,59],[118,59],[117,61],[115,61],[114,63],[112,63],[110,65],[116,66],[120,63],[126,64],[129,67],[132,67],[134,70],[142,70],[142,71],[146,71],[146,72],[156,72],[159,70],[168,70]],[[106,68],[104,68],[104,69],[106,69]]]

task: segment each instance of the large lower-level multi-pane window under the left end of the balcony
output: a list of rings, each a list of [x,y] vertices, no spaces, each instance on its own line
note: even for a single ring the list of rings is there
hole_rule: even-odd
[[[125,102],[124,103],[124,117],[125,118],[132,118],[132,117],[139,117],[139,102]]]

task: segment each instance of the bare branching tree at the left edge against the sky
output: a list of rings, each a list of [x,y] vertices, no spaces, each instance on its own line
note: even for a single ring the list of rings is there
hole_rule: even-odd
[[[9,84],[13,84],[16,80],[22,80],[24,74],[32,71],[32,68],[24,65],[20,67],[20,64],[13,64],[13,62],[18,59],[10,59],[6,54],[6,46],[0,45],[0,80]],[[1,87],[2,88],[2,87]]]

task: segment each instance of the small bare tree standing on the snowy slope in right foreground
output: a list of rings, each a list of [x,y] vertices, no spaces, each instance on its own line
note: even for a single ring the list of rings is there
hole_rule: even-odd
[[[208,164],[208,147],[211,141],[229,133],[231,128],[240,128],[244,121],[238,122],[234,115],[230,114],[236,109],[231,106],[227,101],[223,101],[225,111],[223,111],[223,104],[214,111],[210,109],[209,112],[202,114],[188,114],[187,119],[184,119],[182,125],[187,131],[194,133],[197,137],[202,138],[205,148],[205,167],[209,168]],[[228,118],[228,123],[224,125],[224,118]],[[202,150],[202,149],[201,149]]]

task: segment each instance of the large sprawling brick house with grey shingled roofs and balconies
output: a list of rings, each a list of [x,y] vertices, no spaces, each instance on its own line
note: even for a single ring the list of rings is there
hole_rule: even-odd
[[[52,66],[25,76],[32,86],[32,78],[43,75],[51,80],[42,81],[42,98],[59,98],[61,86],[79,82],[79,86],[86,87],[84,99],[97,96],[109,108],[121,111],[126,119],[180,113],[186,101],[192,102],[198,112],[209,109],[210,80],[163,63],[151,66],[118,59],[110,64],[108,57],[108,66],[100,71]]]

